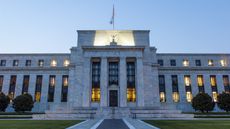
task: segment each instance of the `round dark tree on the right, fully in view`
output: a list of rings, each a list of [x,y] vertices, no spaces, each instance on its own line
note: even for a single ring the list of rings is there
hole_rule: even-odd
[[[215,103],[212,101],[212,97],[210,97],[206,93],[199,93],[192,99],[192,107],[195,111],[209,112],[212,111],[215,107]]]

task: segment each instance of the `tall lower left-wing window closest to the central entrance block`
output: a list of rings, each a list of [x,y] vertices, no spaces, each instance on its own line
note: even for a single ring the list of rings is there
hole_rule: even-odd
[[[67,102],[68,85],[69,85],[69,76],[68,75],[63,75],[62,76],[62,95],[61,95],[61,101],[62,102]]]

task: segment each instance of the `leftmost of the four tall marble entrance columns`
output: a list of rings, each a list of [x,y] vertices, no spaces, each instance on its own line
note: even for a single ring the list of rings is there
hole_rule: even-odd
[[[91,78],[91,59],[90,58],[84,58],[84,64],[83,64],[83,100],[82,100],[82,106],[83,107],[89,107],[90,106],[90,99],[91,99],[91,84],[90,84],[90,78]]]

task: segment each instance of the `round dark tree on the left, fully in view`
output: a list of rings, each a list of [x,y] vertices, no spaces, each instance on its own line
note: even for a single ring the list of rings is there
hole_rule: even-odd
[[[16,112],[31,111],[33,107],[33,97],[30,94],[19,95],[13,100],[13,108]]]

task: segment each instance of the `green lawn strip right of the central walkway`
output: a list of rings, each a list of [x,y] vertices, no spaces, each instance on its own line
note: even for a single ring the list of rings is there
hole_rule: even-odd
[[[230,129],[230,121],[220,120],[147,120],[161,129]]]

